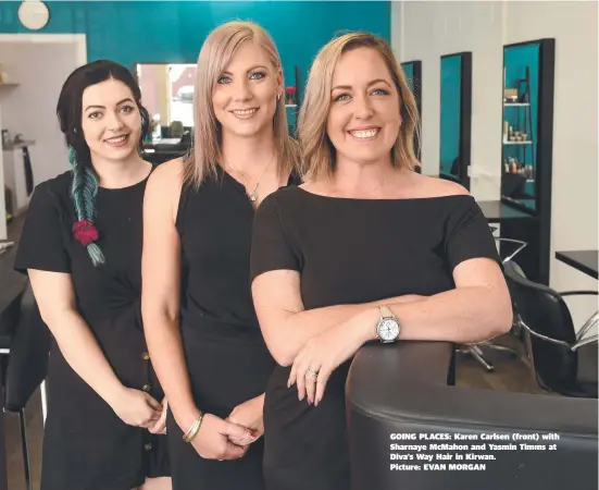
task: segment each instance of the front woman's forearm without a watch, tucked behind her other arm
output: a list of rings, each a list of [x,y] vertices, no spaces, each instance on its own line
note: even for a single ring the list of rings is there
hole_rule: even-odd
[[[282,366],[290,366],[298,352],[313,336],[320,335],[339,323],[360,317],[367,311],[377,310],[379,305],[389,303],[399,305],[420,301],[424,297],[409,294],[372,303],[327,306],[288,314],[274,332],[276,336],[271,335],[270,339],[266,339],[266,343]]]

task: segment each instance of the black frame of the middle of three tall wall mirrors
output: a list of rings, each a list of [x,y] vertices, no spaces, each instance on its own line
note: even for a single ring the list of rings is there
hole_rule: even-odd
[[[439,71],[439,177],[448,181],[457,182],[470,191],[470,160],[472,152],[472,51],[461,51],[444,54],[440,58],[440,64],[446,58],[461,58],[460,64],[460,137],[458,143],[458,151],[461,157],[459,176],[449,173],[442,173],[440,168],[441,152],[441,122],[440,122],[440,105],[441,101],[441,72]],[[439,66],[440,68],[440,66]]]

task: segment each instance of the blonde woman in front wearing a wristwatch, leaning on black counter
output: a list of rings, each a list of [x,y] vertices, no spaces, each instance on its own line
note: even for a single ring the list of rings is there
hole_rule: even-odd
[[[305,183],[269,196],[254,220],[253,301],[279,365],[264,406],[269,489],[350,489],[345,382],[365,342],[478,342],[511,326],[481,209],[413,171],[416,121],[383,39],[322,48],[299,120]]]

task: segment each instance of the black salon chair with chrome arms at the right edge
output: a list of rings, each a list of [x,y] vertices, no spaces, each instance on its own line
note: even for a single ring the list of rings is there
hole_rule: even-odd
[[[588,332],[598,314],[576,333],[563,298],[597,295],[597,291],[558,293],[526,279],[516,262],[507,264],[504,272],[539,385],[566,396],[596,399],[598,335]]]

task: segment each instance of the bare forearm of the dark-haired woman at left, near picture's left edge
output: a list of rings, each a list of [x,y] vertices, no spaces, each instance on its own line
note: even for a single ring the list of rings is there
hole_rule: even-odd
[[[68,366],[114,407],[124,388],[100,348],[93,333],[75,310],[45,315],[57,344]],[[60,380],[59,380],[60,382]]]

